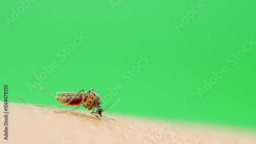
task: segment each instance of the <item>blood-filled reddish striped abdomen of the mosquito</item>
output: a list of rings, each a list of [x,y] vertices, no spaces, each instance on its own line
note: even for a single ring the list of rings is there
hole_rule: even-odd
[[[61,95],[56,95],[55,98],[56,100],[58,100],[60,103],[62,104],[67,104],[68,102],[70,102],[74,97],[75,97],[76,94],[61,94]],[[82,93],[79,93],[76,98],[71,102],[69,103],[68,105],[71,105],[71,106],[76,106],[76,105],[79,105],[82,101]],[[87,96],[86,98],[84,98],[84,102],[87,101]]]

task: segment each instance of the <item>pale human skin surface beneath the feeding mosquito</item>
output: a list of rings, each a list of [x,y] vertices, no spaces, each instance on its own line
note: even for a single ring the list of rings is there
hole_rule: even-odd
[[[4,109],[4,103],[0,102]],[[118,114],[101,121],[88,110],[57,113],[58,108],[8,104],[8,140],[0,118],[0,143],[256,143],[256,132],[153,120]],[[2,110],[2,114],[4,111]]]

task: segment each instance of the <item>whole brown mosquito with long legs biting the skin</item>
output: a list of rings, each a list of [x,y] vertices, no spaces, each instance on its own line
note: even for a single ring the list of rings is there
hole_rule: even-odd
[[[97,116],[98,118],[100,118],[102,120],[102,116],[106,117],[104,115],[102,115],[103,111],[106,111],[108,109],[110,109],[111,107],[113,107],[115,104],[113,104],[112,106],[110,106],[109,108],[103,110],[103,108],[100,106],[101,104],[101,98],[100,95],[98,93],[98,91],[93,91],[93,88],[89,89],[88,91],[84,92],[83,89],[81,89],[79,92],[56,92],[56,94],[60,94],[60,95],[54,95],[50,92],[48,92],[47,90],[45,90],[44,88],[42,88],[37,81],[35,80],[35,77],[33,75],[34,81],[35,83],[40,87],[41,90],[51,94],[52,96],[54,96],[56,98],[57,101],[59,101],[60,105],[55,105],[55,106],[39,106],[39,105],[34,105],[31,104],[25,100],[23,100],[22,98],[19,98],[17,95],[16,97],[19,98],[20,100],[23,100],[24,102],[33,105],[33,106],[38,106],[38,107],[57,107],[57,106],[62,106],[62,105],[71,105],[71,106],[77,106],[76,108],[70,109],[70,110],[66,110],[66,111],[62,111],[62,112],[67,112],[67,111],[71,111],[74,109],[78,109],[79,106],[82,104],[83,107],[88,108],[88,110],[91,110],[93,108],[93,111],[91,112],[91,114]],[[95,107],[96,107],[96,112],[95,112]],[[98,115],[99,116],[98,116]],[[106,117],[109,118],[109,117]],[[113,118],[110,118],[113,119]]]

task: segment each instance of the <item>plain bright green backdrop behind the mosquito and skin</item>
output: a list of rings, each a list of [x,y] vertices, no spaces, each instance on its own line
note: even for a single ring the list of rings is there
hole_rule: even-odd
[[[52,93],[93,87],[105,100],[108,88],[121,82],[123,88],[103,101],[106,108],[120,100],[110,113],[256,128],[256,44],[234,66],[227,61],[245,39],[256,41],[256,1],[205,1],[179,32],[175,21],[182,23],[182,14],[200,1],[113,2],[120,3],[112,8],[109,1],[35,1],[7,23],[22,4],[1,1],[0,78],[9,95],[60,104],[27,86],[33,84],[31,73],[39,76],[42,66],[56,60],[58,67],[41,82]],[[57,53],[75,34],[87,39],[61,61]],[[152,60],[126,82],[122,75],[145,55]],[[201,98],[197,88],[223,65],[228,73]],[[9,102],[23,103],[16,97]]]

